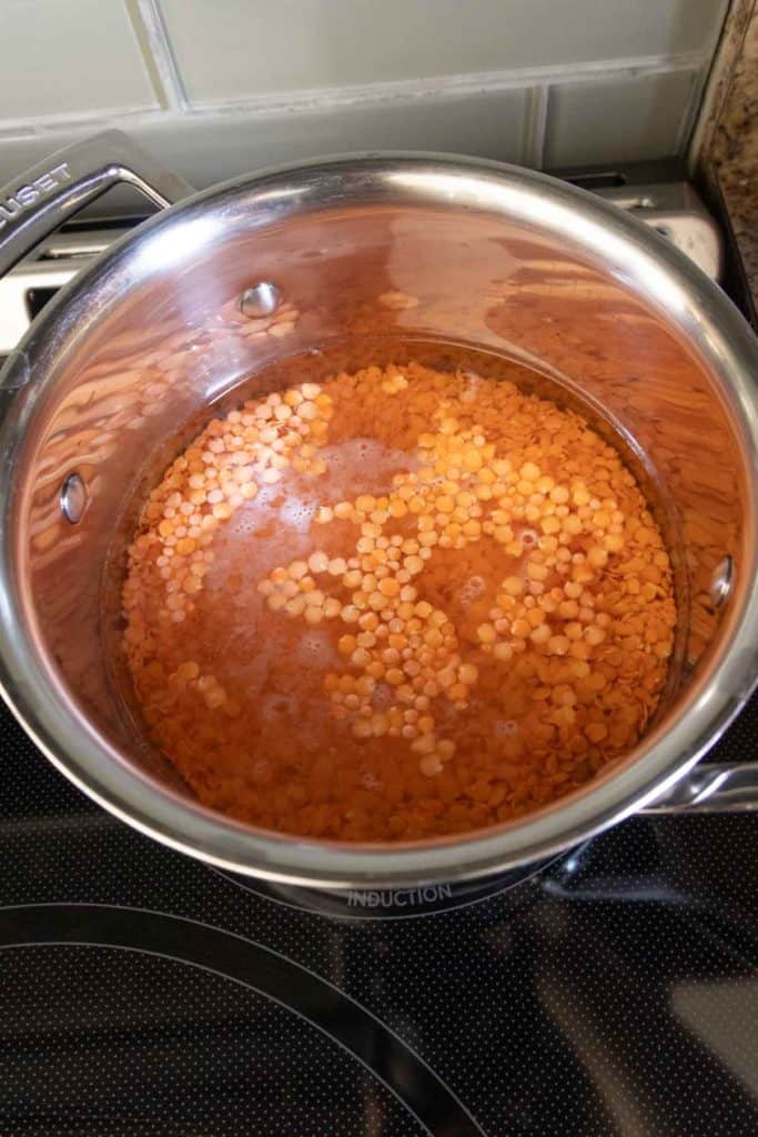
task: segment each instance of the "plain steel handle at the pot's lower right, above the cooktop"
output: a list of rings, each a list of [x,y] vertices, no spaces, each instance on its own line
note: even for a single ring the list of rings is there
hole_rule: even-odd
[[[694,766],[641,813],[738,813],[758,810],[758,762]]]

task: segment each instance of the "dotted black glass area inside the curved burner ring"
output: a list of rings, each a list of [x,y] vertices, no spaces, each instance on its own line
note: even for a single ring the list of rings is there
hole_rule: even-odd
[[[314,1027],[223,978],[58,946],[0,953],[0,985],[3,1135],[425,1131]]]

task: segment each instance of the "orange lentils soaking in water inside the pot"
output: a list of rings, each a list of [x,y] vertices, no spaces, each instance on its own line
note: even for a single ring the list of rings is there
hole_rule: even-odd
[[[520,364],[445,358],[280,365],[143,503],[123,646],[205,804],[320,838],[459,833],[644,732],[676,607],[626,443]]]

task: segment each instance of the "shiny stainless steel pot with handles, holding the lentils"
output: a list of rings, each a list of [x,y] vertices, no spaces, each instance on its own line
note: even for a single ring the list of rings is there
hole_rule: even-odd
[[[118,181],[178,204],[63,290],[0,376],[1,679],[59,770],[175,848],[332,888],[473,878],[644,805],[757,800],[751,766],[690,773],[758,671],[758,349],[716,285],[641,223],[528,171],[368,155],[190,197],[115,132],[0,191],[0,273]],[[106,664],[106,566],[150,459],[251,373],[311,349],[318,371],[348,339],[535,363],[626,433],[676,563],[675,681],[643,741],[570,797],[465,839],[340,845],[214,814],[145,749]]]

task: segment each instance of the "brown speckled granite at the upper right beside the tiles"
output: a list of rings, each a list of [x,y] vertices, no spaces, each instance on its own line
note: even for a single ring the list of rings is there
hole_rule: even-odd
[[[736,0],[711,80],[700,147],[703,176],[720,190],[758,307],[758,5]]]

